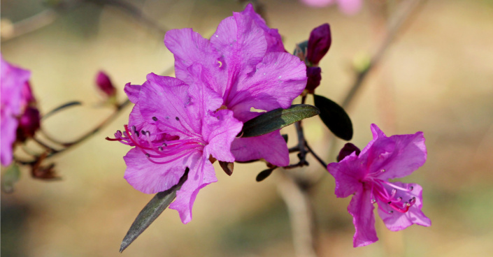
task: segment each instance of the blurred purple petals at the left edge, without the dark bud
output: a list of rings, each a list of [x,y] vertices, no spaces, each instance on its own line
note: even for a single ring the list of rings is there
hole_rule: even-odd
[[[29,87],[29,85],[27,85],[27,81],[29,80],[31,73],[27,70],[9,64],[3,60],[1,55],[0,63],[0,160],[3,166],[8,166],[13,159],[15,131],[17,130],[17,125],[19,124],[18,117],[22,115],[25,104],[29,101],[28,96],[23,96],[23,90],[25,90],[25,87]]]

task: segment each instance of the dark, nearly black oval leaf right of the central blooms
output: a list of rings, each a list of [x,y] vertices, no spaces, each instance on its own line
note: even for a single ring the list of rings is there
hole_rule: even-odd
[[[352,138],[352,122],[345,110],[324,96],[313,95],[315,106],[320,109],[320,119],[334,135],[343,140]]]

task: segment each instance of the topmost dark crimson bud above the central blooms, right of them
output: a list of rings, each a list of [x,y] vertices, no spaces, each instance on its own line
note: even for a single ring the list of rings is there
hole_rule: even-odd
[[[308,39],[306,59],[316,66],[320,62],[320,59],[329,51],[331,43],[332,37],[329,24],[325,23],[316,27],[311,31],[310,38]]]

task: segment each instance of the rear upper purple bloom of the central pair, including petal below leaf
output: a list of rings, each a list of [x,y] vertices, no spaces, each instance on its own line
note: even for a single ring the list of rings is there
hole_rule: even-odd
[[[175,56],[176,77],[196,80],[189,67],[200,64],[201,78],[222,97],[222,105],[241,122],[257,117],[250,111],[289,108],[306,86],[306,66],[285,52],[276,29],[269,29],[251,4],[227,17],[210,40],[192,29],[173,29],[164,38]],[[289,163],[279,131],[255,138],[237,138],[231,145],[236,161],[266,159],[276,166]]]

